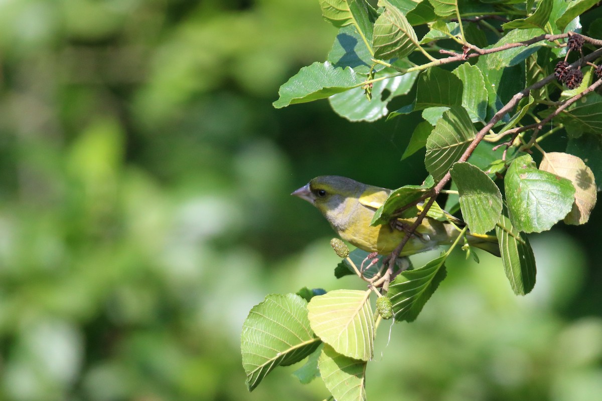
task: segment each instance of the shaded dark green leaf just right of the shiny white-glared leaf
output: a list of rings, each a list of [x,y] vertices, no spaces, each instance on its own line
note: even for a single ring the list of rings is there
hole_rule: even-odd
[[[462,81],[453,73],[432,67],[418,76],[415,110],[462,104]]]

